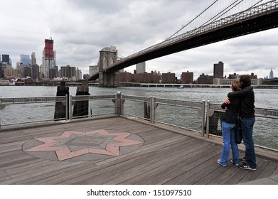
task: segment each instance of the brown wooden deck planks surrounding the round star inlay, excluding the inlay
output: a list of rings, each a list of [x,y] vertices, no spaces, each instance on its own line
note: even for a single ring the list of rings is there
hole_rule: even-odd
[[[127,148],[120,156],[96,154],[96,158],[86,161],[78,156],[53,161],[42,151],[37,152],[41,155],[38,158],[23,150],[23,145],[36,137],[92,129],[130,132],[141,137],[144,144],[138,149]],[[261,157],[257,157],[257,171],[242,170],[230,161],[223,168],[217,163],[221,151],[222,146],[210,141],[121,117],[0,131],[0,183],[237,184],[278,173],[277,161]]]

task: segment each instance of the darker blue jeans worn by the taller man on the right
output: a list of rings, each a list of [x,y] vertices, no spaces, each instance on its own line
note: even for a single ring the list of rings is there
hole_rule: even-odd
[[[242,138],[245,144],[245,158],[247,164],[252,168],[256,168],[256,154],[253,141],[253,126],[255,124],[255,117],[242,117],[241,128]]]

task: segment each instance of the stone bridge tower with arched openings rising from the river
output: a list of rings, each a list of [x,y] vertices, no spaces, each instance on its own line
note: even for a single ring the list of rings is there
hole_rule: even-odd
[[[105,47],[100,50],[100,87],[117,87],[117,73],[106,72],[105,69],[117,62],[118,50],[115,46]]]

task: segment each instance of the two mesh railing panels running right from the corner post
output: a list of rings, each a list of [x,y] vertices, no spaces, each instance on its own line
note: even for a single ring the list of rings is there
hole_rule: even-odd
[[[205,101],[123,95],[123,115],[205,134]]]

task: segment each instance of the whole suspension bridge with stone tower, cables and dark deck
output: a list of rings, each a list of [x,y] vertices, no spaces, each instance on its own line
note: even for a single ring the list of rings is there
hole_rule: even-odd
[[[99,79],[100,87],[116,87],[117,71],[131,65],[202,45],[277,28],[278,0],[267,2],[248,1],[248,5],[246,6],[245,2],[244,6],[247,9],[239,11],[238,8],[243,7],[242,2],[233,1],[232,4],[221,9],[218,14],[202,22],[198,28],[193,28],[185,33],[181,33],[181,30],[178,30],[165,41],[140,50],[126,58],[119,59],[115,49],[102,48],[100,50],[99,71],[90,75],[87,80]],[[203,14],[210,12],[212,8],[217,6],[217,1],[214,1],[192,21],[197,21]],[[186,26],[183,28],[186,28]]]

